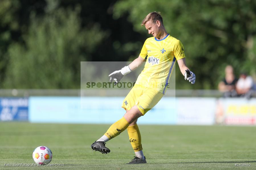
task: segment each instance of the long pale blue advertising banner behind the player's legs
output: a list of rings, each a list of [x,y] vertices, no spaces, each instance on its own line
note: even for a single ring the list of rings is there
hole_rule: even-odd
[[[122,118],[124,97],[87,97],[86,109],[81,109],[80,97],[30,97],[29,121],[35,123],[91,123],[112,124]],[[175,98],[165,98],[139,119],[140,124],[176,124],[175,109],[163,109]],[[109,105],[117,105],[110,109]],[[97,107],[95,107],[97,106]]]

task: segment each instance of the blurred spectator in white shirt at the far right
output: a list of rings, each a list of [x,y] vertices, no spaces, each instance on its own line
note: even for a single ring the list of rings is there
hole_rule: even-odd
[[[240,97],[249,99],[252,95],[253,78],[246,73],[241,73],[236,84],[236,92]]]

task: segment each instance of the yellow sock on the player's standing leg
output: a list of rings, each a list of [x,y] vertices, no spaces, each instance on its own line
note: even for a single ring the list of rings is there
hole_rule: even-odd
[[[141,136],[138,125],[128,126],[127,128],[129,140],[132,145],[132,148],[135,152],[142,150],[141,145]]]

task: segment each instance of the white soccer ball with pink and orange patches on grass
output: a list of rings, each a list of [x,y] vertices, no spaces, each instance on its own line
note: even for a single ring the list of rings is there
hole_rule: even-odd
[[[32,158],[36,162],[36,164],[48,164],[52,160],[52,151],[46,146],[38,146],[33,154]]]

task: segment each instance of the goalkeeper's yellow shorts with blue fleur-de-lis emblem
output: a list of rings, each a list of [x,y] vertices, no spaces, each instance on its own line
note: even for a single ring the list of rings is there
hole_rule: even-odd
[[[152,109],[162,97],[163,94],[157,90],[135,84],[124,98],[122,108],[128,111],[134,105],[137,105],[140,112],[144,115]]]

